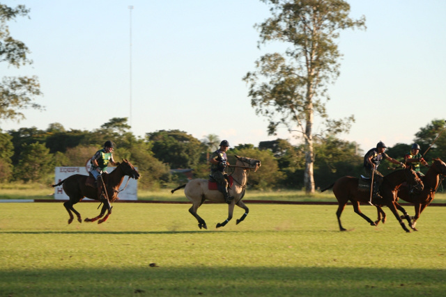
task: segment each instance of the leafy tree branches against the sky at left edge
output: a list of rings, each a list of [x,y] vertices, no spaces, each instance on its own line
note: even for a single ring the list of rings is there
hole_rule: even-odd
[[[25,17],[29,13],[23,5],[10,8],[0,3],[0,62],[19,68],[21,65],[30,65],[27,54],[28,47],[20,41],[15,40],[9,33],[8,21],[16,17]],[[3,77],[0,82],[0,120],[22,120],[24,119],[22,109],[43,109],[33,100],[42,95],[37,77]]]

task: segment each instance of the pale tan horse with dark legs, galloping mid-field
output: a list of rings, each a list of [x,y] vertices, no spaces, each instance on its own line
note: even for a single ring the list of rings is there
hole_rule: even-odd
[[[234,170],[231,174],[231,177],[233,177],[233,186],[231,186],[231,189],[229,189],[229,195],[233,196],[234,199],[228,205],[228,218],[226,218],[223,223],[217,223],[215,226],[216,228],[224,227],[224,225],[229,223],[229,220],[231,220],[233,216],[234,205],[245,209],[245,214],[243,214],[243,216],[237,220],[236,225],[245,220],[249,213],[249,209],[245,203],[243,203],[242,198],[245,196],[249,170],[254,170],[254,172],[256,172],[261,166],[261,161],[244,156],[236,156],[236,158],[236,166],[233,166]],[[198,227],[200,229],[208,229],[206,222],[197,214],[197,209],[205,200],[225,203],[223,193],[217,190],[210,190],[208,188],[208,179],[192,179],[187,184],[174,188],[174,190],[171,190],[171,193],[174,193],[180,188],[184,188],[184,193],[187,199],[192,202],[192,207],[190,207],[189,212],[192,214],[192,216],[197,218]]]

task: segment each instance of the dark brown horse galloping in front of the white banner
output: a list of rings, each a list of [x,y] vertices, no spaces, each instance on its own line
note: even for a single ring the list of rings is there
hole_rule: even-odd
[[[121,184],[123,183],[123,179],[125,176],[128,176],[129,178],[132,177],[134,179],[139,179],[140,177],[139,172],[133,167],[132,163],[125,159],[123,159],[121,163],[118,163],[118,166],[116,166],[115,170],[103,176],[105,183],[107,184],[107,186],[105,187],[105,193],[109,195],[108,198],[110,203],[119,199],[119,186],[121,186]],[[63,203],[63,206],[66,208],[68,214],[70,215],[68,224],[71,224],[72,220],[74,219],[72,212],[76,214],[77,221],[79,221],[79,223],[82,223],[81,215],[79,214],[79,212],[76,211],[76,209],[74,209],[74,204],[84,198],[90,198],[100,201],[100,198],[98,197],[98,189],[86,185],[87,178],[89,177],[86,175],[71,175],[70,177],[63,179],[63,181],[59,182],[59,184],[52,185],[52,187],[55,187],[63,184],[63,191],[65,191],[65,193],[70,198],[70,200]],[[112,214],[112,207],[107,207],[107,204],[109,203],[105,203],[102,205],[99,216],[95,218],[86,218],[85,221],[94,222],[95,220],[99,220],[98,224],[104,223],[107,218],[109,218],[109,215]],[[102,218],[106,210],[108,210],[107,215]]]

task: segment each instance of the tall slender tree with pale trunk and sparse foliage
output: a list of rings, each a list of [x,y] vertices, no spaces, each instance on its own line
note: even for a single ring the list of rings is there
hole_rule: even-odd
[[[269,120],[268,134],[279,125],[298,131],[305,141],[304,183],[307,193],[314,193],[313,132],[314,115],[332,135],[348,131],[353,115],[344,120],[330,120],[322,99],[328,83],[339,76],[341,57],[337,44],[339,31],[365,28],[365,17],[348,17],[350,6],[342,0],[261,0],[270,4],[272,17],[256,24],[259,46],[272,40],[291,45],[285,55],[266,54],[256,61],[256,72],[243,78],[249,84],[249,97],[256,113]]]

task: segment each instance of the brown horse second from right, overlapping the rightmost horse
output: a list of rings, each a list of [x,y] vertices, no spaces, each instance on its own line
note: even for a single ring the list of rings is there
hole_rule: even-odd
[[[353,209],[356,214],[360,215],[362,218],[364,218],[364,220],[367,220],[367,222],[369,222],[371,226],[377,225],[377,223],[371,220],[368,216],[362,214],[360,210],[360,202],[369,202],[370,193],[367,191],[359,191],[358,182],[359,179],[357,179],[356,177],[344,176],[339,178],[333,184],[330,184],[330,186],[327,186],[321,190],[321,192],[323,192],[325,190],[328,190],[329,188],[333,188],[333,193],[336,196],[339,204],[336,215],[337,221],[339,223],[339,230],[341,231],[346,231],[346,229],[342,227],[341,224],[341,214],[348,200],[352,202]],[[381,184],[380,193],[382,193],[383,195],[384,205],[392,210],[392,213],[401,224],[401,227],[403,227],[403,230],[406,232],[410,232],[410,230],[408,230],[408,228],[404,224],[403,220],[401,220],[401,217],[397,212],[397,207],[394,203],[397,200],[397,191],[400,188],[401,184],[403,184],[403,182],[413,184],[415,188],[419,189],[419,191],[421,191],[420,189],[422,189],[423,187],[420,177],[418,177],[415,171],[408,168],[396,170],[383,177],[383,184]],[[410,222],[410,216],[404,209],[403,214],[404,218],[408,220],[409,225],[412,225]]]

